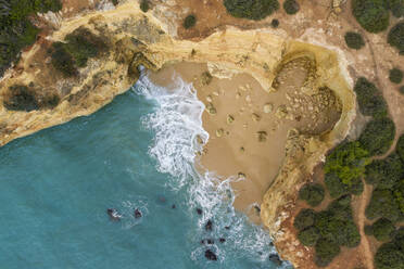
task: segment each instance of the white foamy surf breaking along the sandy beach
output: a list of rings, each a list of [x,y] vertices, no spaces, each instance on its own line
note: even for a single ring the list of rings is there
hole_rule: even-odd
[[[195,170],[195,153],[202,150],[197,137],[204,142],[209,140],[209,133],[202,127],[205,106],[198,100],[191,84],[186,84],[178,75],[174,75],[172,81],[172,85],[159,87],[143,73],[134,90],[156,102],[155,111],[147,115],[142,123],[155,133],[149,153],[157,161],[157,169],[171,175],[168,185],[172,189],[186,189],[190,213],[194,214],[195,208],[203,209],[198,231],[190,234],[198,242],[191,258],[204,258],[206,246],[199,242],[205,236],[226,238],[226,244],[210,246],[220,262],[226,262],[225,259],[237,260],[240,255],[256,261],[267,261],[268,256],[275,253],[268,233],[263,228],[251,225],[232,206],[236,195],[230,183],[237,179],[220,179],[213,172],[201,175]],[[204,229],[207,220],[214,223],[213,231],[209,234]]]

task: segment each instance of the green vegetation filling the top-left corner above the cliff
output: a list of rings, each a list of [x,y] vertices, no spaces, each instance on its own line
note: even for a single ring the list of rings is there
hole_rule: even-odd
[[[59,0],[8,0],[0,1],[0,76],[17,60],[22,49],[35,42],[39,29],[28,16],[37,12],[56,12]]]

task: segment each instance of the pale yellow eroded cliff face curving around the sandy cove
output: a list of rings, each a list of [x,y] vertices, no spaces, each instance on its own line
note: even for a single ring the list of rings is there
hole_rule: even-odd
[[[287,208],[293,205],[305,175],[346,136],[355,116],[355,95],[343,76],[345,67],[328,49],[286,40],[265,30],[227,28],[192,42],[174,39],[167,27],[139,11],[131,0],[114,10],[62,21],[56,31],[23,53],[17,67],[0,82],[0,145],[96,112],[136,82],[140,64],[159,69],[180,61],[209,63],[215,76],[248,73],[270,92],[282,64],[307,56],[315,64],[315,74],[305,90],[310,94],[320,87],[331,89],[342,104],[341,118],[330,132],[320,136],[290,132],[283,166],[265,194],[261,210],[282,258],[299,266],[299,255],[283,247],[285,242],[296,239],[281,227],[281,221],[288,217]],[[49,48],[77,29],[101,38],[108,49],[90,59],[76,76],[66,78],[53,68]]]

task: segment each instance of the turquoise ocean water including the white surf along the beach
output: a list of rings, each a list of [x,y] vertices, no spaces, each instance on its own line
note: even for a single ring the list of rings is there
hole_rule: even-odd
[[[0,268],[290,268],[235,212],[233,179],[195,171],[203,103],[179,77],[168,88],[143,75],[99,112],[0,148]]]

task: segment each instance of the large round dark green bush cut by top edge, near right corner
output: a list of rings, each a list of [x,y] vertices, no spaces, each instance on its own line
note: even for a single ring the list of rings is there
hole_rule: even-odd
[[[379,33],[389,26],[389,11],[384,0],[353,0],[352,14],[369,33]]]

